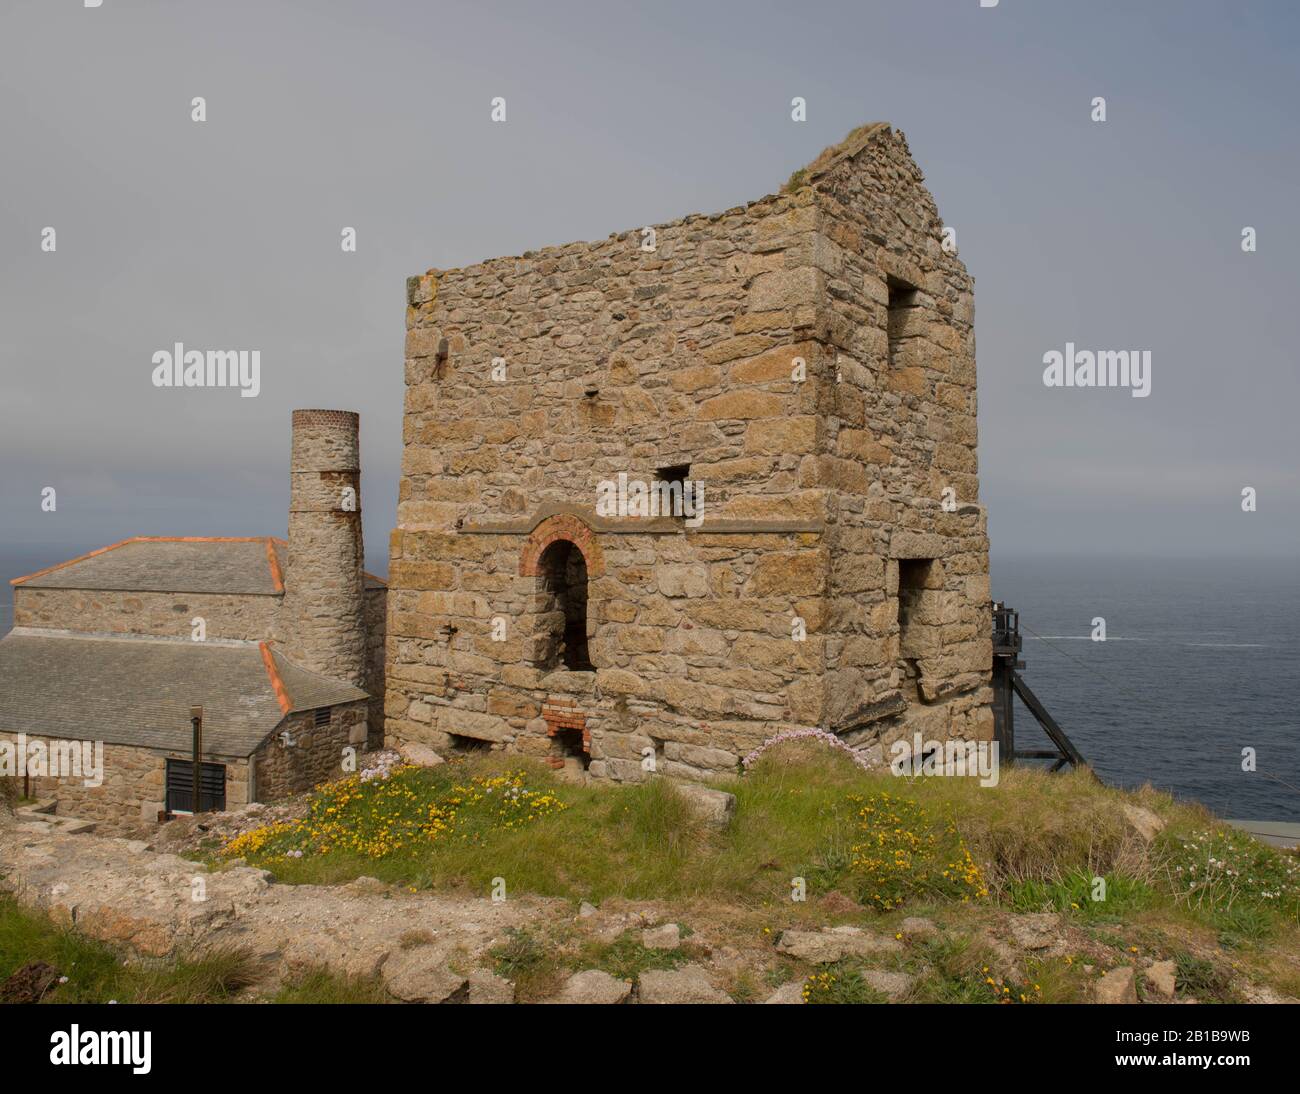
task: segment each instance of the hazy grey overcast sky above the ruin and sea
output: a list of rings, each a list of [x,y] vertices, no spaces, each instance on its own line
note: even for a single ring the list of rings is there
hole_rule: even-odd
[[[283,534],[290,411],[338,407],[382,569],[407,275],[725,209],[888,121],[975,275],[993,551],[1295,555],[1297,31],[1248,0],[3,0],[0,547]],[[174,342],[260,350],[261,394],[155,388]],[[1066,342],[1149,350],[1150,396],[1045,387]]]

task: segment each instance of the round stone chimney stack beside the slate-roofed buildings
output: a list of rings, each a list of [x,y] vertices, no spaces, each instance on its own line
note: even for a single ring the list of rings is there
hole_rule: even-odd
[[[365,686],[360,418],[294,411],[289,565],[276,629],[304,669]]]

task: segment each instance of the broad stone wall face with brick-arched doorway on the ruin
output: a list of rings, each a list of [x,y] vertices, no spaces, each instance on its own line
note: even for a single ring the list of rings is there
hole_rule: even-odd
[[[634,778],[647,747],[664,770],[727,770],[777,729],[818,724],[824,392],[792,381],[794,357],[810,374],[822,359],[818,216],[811,192],[770,197],[659,226],[653,253],[624,233],[411,281],[391,741],[458,734],[554,757],[571,703],[592,769]],[[688,463],[703,529],[594,518],[599,481]],[[520,557],[537,518],[564,509],[594,526],[582,546],[602,563],[594,674],[536,664],[537,578]]]

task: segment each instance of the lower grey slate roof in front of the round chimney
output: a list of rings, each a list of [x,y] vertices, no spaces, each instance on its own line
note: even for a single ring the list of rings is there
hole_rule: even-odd
[[[0,639],[0,730],[146,748],[247,756],[286,713],[365,699],[268,643],[108,638],[18,628]]]

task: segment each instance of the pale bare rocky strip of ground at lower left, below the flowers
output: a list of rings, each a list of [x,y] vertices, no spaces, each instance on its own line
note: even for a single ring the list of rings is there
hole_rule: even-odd
[[[355,889],[270,885],[265,871],[250,867],[208,873],[136,842],[27,832],[17,824],[0,826],[0,861],[17,900],[57,924],[129,956],[247,950],[265,974],[260,990],[321,967],[356,976],[386,968],[399,977],[412,955],[446,960],[460,952],[469,968],[511,928],[562,917],[569,907],[526,895],[493,903],[382,885],[370,891],[373,881]],[[425,945],[399,954],[407,935]]]

